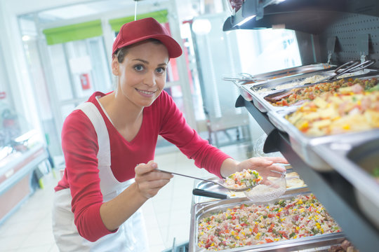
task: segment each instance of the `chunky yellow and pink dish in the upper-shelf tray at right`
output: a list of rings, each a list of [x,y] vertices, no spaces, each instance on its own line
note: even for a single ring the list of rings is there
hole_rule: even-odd
[[[326,92],[286,116],[310,136],[358,132],[379,127],[379,85],[364,90],[360,83]]]

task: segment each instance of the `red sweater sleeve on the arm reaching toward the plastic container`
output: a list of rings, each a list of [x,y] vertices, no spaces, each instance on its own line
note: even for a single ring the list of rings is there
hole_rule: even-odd
[[[186,123],[173,99],[166,92],[162,92],[162,94],[164,99],[161,99],[160,106],[163,110],[161,113],[161,136],[178,146],[187,158],[194,160],[197,167],[204,168],[222,178],[220,167],[222,162],[230,156],[209,144],[208,141],[201,139],[199,134]]]

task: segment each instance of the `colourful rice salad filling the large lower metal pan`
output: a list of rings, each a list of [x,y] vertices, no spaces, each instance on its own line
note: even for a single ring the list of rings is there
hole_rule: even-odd
[[[198,246],[210,251],[341,232],[314,195],[237,205],[199,221]]]

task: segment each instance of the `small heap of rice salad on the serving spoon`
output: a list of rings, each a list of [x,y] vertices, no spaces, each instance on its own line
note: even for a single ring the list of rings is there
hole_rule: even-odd
[[[224,186],[230,189],[244,189],[255,186],[262,181],[262,176],[252,169],[244,169],[242,172],[235,172],[224,180]]]

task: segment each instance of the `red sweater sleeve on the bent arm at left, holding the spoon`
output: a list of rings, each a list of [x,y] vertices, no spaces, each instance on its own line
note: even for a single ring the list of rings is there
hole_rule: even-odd
[[[102,193],[98,170],[98,137],[82,111],[67,116],[62,127],[67,183],[72,195],[72,212],[79,235],[96,241],[110,232],[100,218]],[[116,232],[114,230],[113,232]]]

